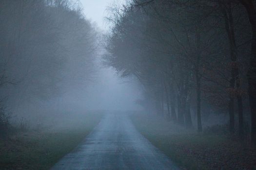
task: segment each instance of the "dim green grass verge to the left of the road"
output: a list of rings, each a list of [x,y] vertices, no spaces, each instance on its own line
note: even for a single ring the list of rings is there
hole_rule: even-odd
[[[101,114],[69,117],[54,128],[29,130],[0,139],[0,170],[48,170],[71,152],[101,117]]]

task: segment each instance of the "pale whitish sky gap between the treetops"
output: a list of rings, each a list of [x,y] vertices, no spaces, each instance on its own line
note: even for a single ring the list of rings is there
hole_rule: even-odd
[[[107,15],[106,8],[114,1],[123,3],[125,0],[80,0],[85,16],[96,22],[102,30],[107,30],[107,24],[104,21],[104,17]]]

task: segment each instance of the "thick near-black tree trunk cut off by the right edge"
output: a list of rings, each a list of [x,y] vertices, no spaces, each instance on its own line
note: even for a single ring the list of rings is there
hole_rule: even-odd
[[[245,7],[252,26],[252,49],[247,73],[248,94],[251,107],[252,143],[256,145],[256,9],[253,0],[239,0]]]

